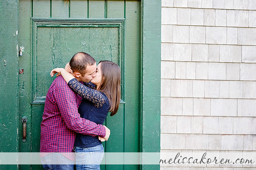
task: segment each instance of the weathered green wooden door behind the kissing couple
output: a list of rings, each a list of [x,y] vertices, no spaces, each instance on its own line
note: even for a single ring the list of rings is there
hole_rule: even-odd
[[[121,104],[105,124],[111,130],[106,152],[140,152],[139,132],[139,1],[20,0],[18,46],[19,119],[28,117],[27,142],[19,123],[19,152],[39,152],[44,100],[53,79],[79,51],[111,60],[121,68]],[[22,158],[20,158],[22,159]],[[136,158],[134,158],[136,159]],[[106,160],[107,162],[107,160]],[[40,165],[19,165],[38,169]],[[101,169],[138,169],[138,165],[101,165]]]

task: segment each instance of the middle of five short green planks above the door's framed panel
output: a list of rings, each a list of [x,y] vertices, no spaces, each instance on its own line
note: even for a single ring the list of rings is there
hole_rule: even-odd
[[[87,0],[71,0],[70,1],[70,17],[71,18],[88,18]]]

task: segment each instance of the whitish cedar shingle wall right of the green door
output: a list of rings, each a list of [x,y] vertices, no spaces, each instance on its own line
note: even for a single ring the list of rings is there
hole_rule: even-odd
[[[161,152],[255,151],[256,1],[162,0],[161,22]]]

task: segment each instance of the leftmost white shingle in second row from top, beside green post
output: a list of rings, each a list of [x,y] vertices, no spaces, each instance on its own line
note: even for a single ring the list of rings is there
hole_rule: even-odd
[[[177,24],[177,8],[162,7],[161,21],[162,25],[176,25]]]

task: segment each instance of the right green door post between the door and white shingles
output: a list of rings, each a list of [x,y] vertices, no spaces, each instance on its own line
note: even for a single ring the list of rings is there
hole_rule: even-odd
[[[141,151],[160,152],[161,0],[142,0]],[[160,165],[142,165],[142,170]]]

